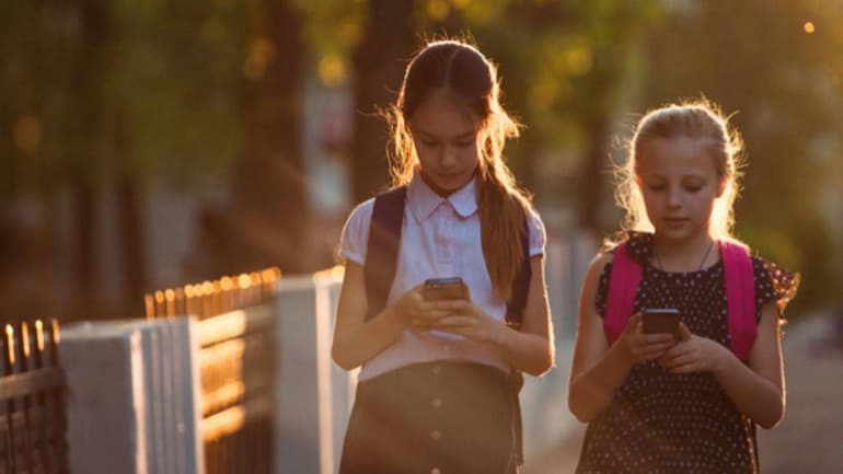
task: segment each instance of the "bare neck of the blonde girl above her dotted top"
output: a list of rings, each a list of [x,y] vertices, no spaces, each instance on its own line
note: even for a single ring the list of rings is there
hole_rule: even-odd
[[[654,234],[653,264],[662,271],[690,273],[707,268],[717,262],[717,242],[707,233],[675,241]]]

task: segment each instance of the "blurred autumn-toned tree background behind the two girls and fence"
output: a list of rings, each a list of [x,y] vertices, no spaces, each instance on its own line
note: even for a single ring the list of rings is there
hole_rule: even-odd
[[[841,0],[2,1],[0,323],[137,317],[160,288],[335,265],[348,211],[388,185],[378,112],[441,37],[499,63],[527,125],[507,154],[556,242],[616,230],[612,166],[648,108],[705,96],[731,115],[737,235],[802,276],[790,412],[762,459],[835,472]],[[580,439],[529,472],[566,472]]]

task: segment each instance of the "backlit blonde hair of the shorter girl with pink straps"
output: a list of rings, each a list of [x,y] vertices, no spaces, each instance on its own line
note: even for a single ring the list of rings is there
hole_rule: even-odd
[[[638,122],[635,134],[627,143],[627,160],[615,170],[619,183],[615,199],[625,211],[621,229],[624,231],[651,232],[644,196],[637,183],[637,164],[644,144],[655,139],[686,137],[698,140],[715,161],[717,176],[724,185],[723,194],[715,200],[709,220],[709,234],[716,240],[740,243],[732,235],[735,200],[740,193],[742,177],[743,141],[729,124],[720,108],[701,99],[669,104],[647,112]]]

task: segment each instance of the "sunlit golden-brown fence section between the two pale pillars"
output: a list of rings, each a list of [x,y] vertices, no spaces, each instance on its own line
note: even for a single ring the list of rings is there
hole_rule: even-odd
[[[269,474],[280,270],[223,277],[146,297],[148,319],[199,319],[201,433],[208,474]]]

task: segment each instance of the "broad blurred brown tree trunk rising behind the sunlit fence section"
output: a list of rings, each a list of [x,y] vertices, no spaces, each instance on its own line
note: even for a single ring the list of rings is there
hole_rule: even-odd
[[[301,151],[302,51],[300,19],[288,2],[265,0],[256,35],[272,54],[244,92],[247,147],[234,167],[233,206],[223,219],[231,246],[219,255],[226,273],[280,266],[300,271],[309,223]],[[212,276],[212,275],[211,275]],[[219,275],[217,275],[219,276]]]

